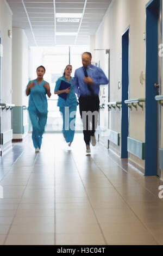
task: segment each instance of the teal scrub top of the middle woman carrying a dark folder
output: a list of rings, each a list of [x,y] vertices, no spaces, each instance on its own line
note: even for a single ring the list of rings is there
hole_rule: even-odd
[[[73,79],[72,79],[72,77],[70,79],[70,82],[68,82],[64,76],[59,77],[57,82],[56,82],[54,91],[57,92],[59,90],[60,83],[61,83],[62,80],[64,80],[67,83],[70,83],[70,93],[67,94],[67,99],[66,100],[64,100],[64,99],[62,99],[61,97],[58,96],[58,104],[57,104],[57,106],[58,107],[74,107],[74,106],[77,106],[78,105],[77,97],[74,94]]]

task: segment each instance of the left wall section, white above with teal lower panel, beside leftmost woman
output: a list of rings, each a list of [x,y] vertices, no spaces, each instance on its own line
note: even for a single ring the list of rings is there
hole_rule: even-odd
[[[28,133],[28,40],[23,29],[12,28],[12,112],[13,141],[22,141]],[[25,106],[25,107],[23,107]]]

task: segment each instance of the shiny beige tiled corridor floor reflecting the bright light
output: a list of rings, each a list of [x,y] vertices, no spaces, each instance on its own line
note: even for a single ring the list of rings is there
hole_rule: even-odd
[[[0,159],[0,245],[163,245],[159,180],[145,177],[83,135],[71,150],[45,134],[35,154],[31,135]]]

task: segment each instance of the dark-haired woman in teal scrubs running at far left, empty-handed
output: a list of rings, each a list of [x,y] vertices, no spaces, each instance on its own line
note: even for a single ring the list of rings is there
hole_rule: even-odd
[[[47,122],[47,98],[51,97],[49,83],[43,80],[45,74],[44,66],[39,66],[36,70],[37,78],[29,81],[26,95],[29,95],[28,111],[33,126],[32,139],[35,152],[39,153],[42,143],[42,135]]]

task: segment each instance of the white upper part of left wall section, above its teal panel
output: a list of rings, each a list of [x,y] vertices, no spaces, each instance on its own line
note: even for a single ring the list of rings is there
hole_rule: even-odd
[[[12,28],[12,102],[28,104],[25,94],[28,83],[28,40],[23,29]]]

